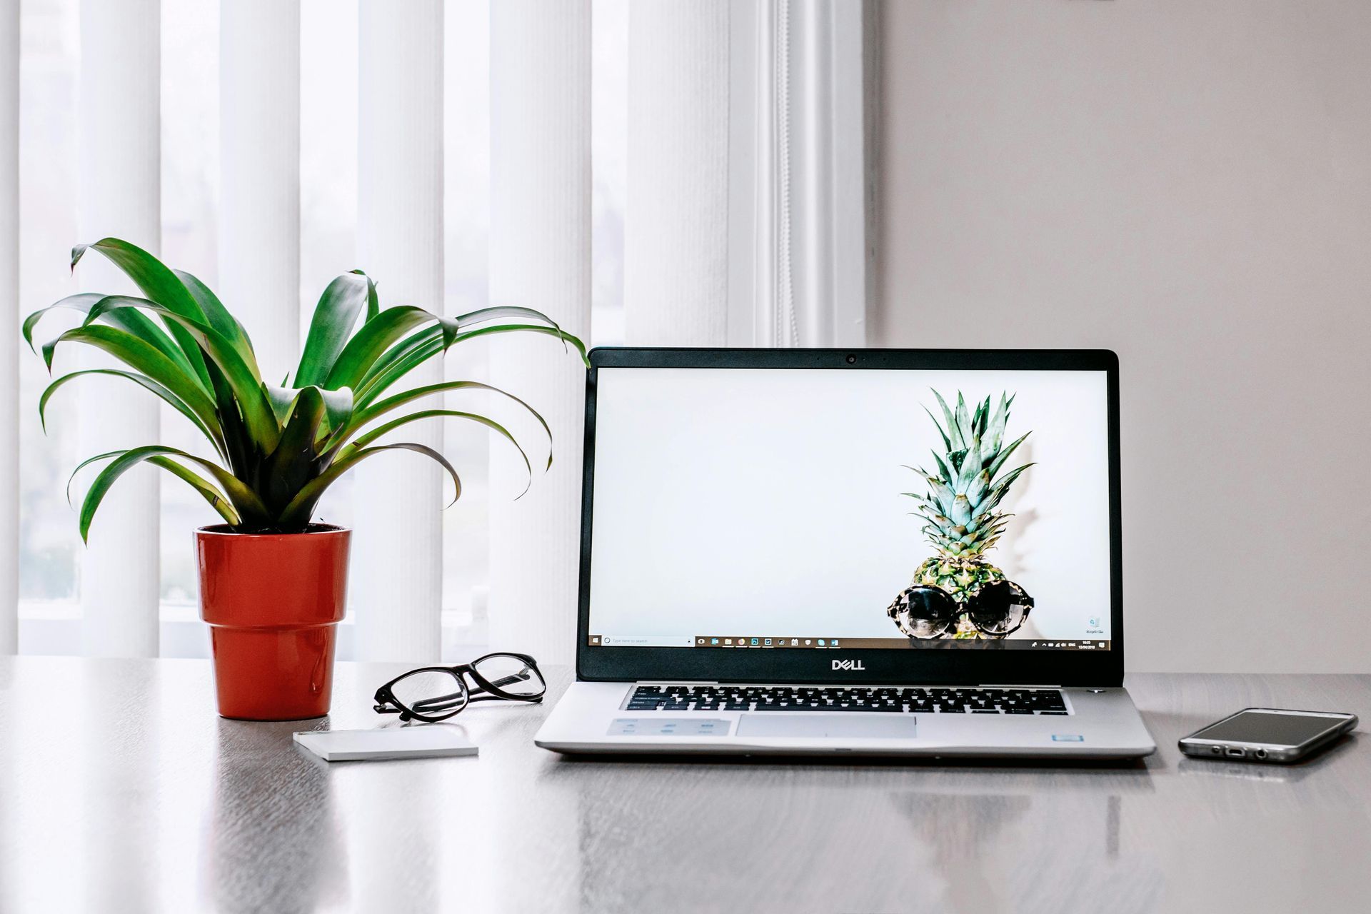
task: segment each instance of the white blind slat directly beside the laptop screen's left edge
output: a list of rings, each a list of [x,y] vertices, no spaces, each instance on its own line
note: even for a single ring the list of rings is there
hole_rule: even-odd
[[[492,304],[529,304],[590,338],[591,4],[491,4]],[[491,445],[491,645],[573,658],[585,373],[551,338],[491,345],[494,384],[553,428],[553,469],[518,502],[524,467]]]

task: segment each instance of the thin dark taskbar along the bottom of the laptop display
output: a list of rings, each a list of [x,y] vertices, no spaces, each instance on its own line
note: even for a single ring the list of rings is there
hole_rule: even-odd
[[[998,650],[998,651],[1108,651],[1109,639],[851,639],[851,637],[766,637],[744,634],[696,634],[690,636],[648,636],[648,634],[591,634],[587,639],[590,647],[690,647],[690,648],[718,648],[718,650],[780,650],[787,651],[831,651],[853,650]]]

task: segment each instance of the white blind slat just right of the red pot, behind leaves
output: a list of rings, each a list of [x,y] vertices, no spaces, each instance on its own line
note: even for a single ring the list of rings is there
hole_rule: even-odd
[[[358,266],[377,281],[383,306],[441,314],[443,5],[363,0],[358,34]],[[430,359],[406,385],[436,384],[441,369]],[[440,406],[440,397],[422,402]],[[441,449],[441,433],[430,419],[392,439]],[[372,458],[355,474],[356,658],[437,660],[446,477],[404,451]]]

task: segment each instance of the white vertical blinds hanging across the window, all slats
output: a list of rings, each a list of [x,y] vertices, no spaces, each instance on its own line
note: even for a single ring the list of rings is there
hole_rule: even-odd
[[[81,241],[112,234],[160,248],[159,12],[160,0],[80,0]],[[0,348],[0,652],[18,645],[15,434],[27,415],[15,381],[18,14],[18,3],[0,3],[0,321],[8,334]],[[300,10],[225,0],[219,16],[218,288],[271,380],[293,369],[300,343]],[[856,221],[846,210],[866,190],[861,4],[644,0],[628,4],[627,18],[627,341],[794,343],[766,330],[775,289],[784,286],[786,319],[798,315],[801,341],[858,344],[865,273],[850,260],[862,259],[866,236],[860,206]],[[489,4],[489,301],[539,308],[587,341],[591,22],[591,0]],[[444,310],[443,36],[441,0],[358,5],[355,262],[380,281],[384,307]],[[791,121],[802,127],[794,137]],[[792,199],[795,208],[786,203]],[[845,254],[835,259],[828,252],[838,241]],[[128,288],[92,258],[78,280],[84,289]],[[433,363],[409,382],[432,384],[443,371]],[[518,500],[521,463],[505,441],[489,445],[489,641],[566,662],[583,370],[555,340],[506,336],[489,347],[488,380],[533,403],[554,433],[551,470]],[[155,400],[126,388],[89,381],[80,393],[81,456],[159,440]],[[418,428],[415,440],[441,445],[440,428]],[[351,600],[359,659],[440,656],[444,485],[437,467],[418,459],[359,467]],[[114,488],[81,556],[88,652],[158,654],[158,478],[141,469]]]

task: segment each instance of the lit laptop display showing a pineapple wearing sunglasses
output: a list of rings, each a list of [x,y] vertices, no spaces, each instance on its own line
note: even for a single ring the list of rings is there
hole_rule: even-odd
[[[1108,651],[1105,371],[602,367],[588,647]]]

